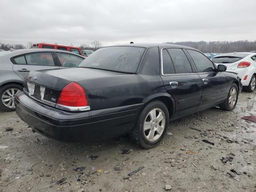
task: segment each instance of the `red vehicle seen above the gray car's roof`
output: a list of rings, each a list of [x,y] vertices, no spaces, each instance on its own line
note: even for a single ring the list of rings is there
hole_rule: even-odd
[[[70,52],[82,55],[78,47],[70,47],[70,46],[46,44],[46,43],[34,43],[33,48],[58,49],[58,50],[70,51]]]

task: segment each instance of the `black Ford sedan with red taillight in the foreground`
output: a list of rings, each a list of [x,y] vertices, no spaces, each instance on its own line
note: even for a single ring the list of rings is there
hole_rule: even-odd
[[[157,145],[169,121],[219,105],[233,110],[234,73],[200,51],[171,44],[104,47],[78,67],[29,72],[15,97],[18,116],[58,140],[98,140],[130,133]]]

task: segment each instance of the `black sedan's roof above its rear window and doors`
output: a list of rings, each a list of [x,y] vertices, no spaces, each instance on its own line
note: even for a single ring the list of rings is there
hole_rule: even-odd
[[[114,45],[114,46],[130,46],[130,47],[143,47],[143,48],[149,48],[149,47],[160,47],[160,48],[165,48],[165,47],[178,47],[178,48],[190,48],[194,49],[192,47],[187,47],[187,46],[182,46],[182,45],[176,45],[176,44],[165,44],[165,43],[129,43],[129,44],[121,44],[121,45]],[[113,47],[113,46],[111,46]]]

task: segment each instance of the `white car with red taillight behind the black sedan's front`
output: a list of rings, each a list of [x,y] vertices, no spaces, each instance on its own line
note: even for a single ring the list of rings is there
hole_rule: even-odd
[[[243,89],[253,92],[256,84],[256,53],[239,52],[219,54],[212,58],[212,61],[218,65],[227,66],[228,72],[238,73],[243,84]]]

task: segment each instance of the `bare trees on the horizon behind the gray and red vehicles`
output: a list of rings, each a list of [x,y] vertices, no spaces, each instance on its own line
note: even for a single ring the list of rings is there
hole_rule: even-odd
[[[44,42],[43,42],[44,43]],[[57,42],[55,42],[54,44],[58,44]],[[68,46],[72,46],[72,44],[68,45]],[[97,49],[101,48],[102,47],[102,43],[99,42],[99,41],[93,41],[89,44],[81,44],[80,46],[78,46],[80,48],[80,50],[93,50],[93,51],[96,51]],[[28,42],[25,45],[23,44],[5,44],[5,43],[1,43],[0,42],[0,49],[3,49],[3,50],[11,50],[11,49],[25,49],[25,48],[33,48],[33,43],[32,42]]]

